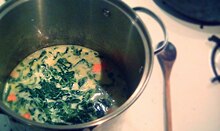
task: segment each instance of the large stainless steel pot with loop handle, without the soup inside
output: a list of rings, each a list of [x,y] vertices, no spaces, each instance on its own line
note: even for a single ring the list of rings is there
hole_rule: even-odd
[[[159,18],[144,8],[134,10],[148,13],[159,21],[165,44],[166,31]],[[90,128],[124,112],[143,92],[153,67],[151,40],[134,10],[118,0],[11,0],[4,4],[0,8],[1,96],[5,80],[19,61],[40,48],[65,43],[102,52],[120,65],[127,76],[129,99],[100,119],[67,126],[26,120],[2,102],[1,110],[23,124],[56,130]]]

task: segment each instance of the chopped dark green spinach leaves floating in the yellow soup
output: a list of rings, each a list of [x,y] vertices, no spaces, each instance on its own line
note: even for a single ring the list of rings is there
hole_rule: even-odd
[[[53,49],[55,51],[59,49],[59,46]],[[70,49],[71,51],[69,51]],[[98,74],[90,70],[93,66],[92,61],[83,58],[90,52],[92,54],[93,51],[83,53],[82,48],[68,46],[61,53],[48,52],[55,62],[53,66],[49,66],[50,64],[45,61],[48,58],[46,50],[42,50],[40,55],[24,62],[28,65],[21,62],[22,68],[18,71],[21,73],[19,78],[8,80],[9,83],[16,83],[15,89],[18,93],[16,102],[8,102],[9,107],[13,107],[14,111],[18,113],[18,107],[22,107],[35,116],[33,120],[47,124],[79,124],[104,116],[108,108],[112,107],[113,101],[104,91],[99,90],[102,83],[96,80]],[[93,53],[92,56],[97,59],[99,54]],[[73,62],[68,61],[70,60],[68,57],[72,56],[78,61],[74,62],[74,59]],[[77,66],[80,65],[90,70],[86,72],[86,76],[80,76],[81,70],[77,69]],[[23,76],[26,69],[29,72]],[[36,73],[38,78],[35,76]],[[108,73],[107,76],[114,79],[113,73]],[[21,80],[29,80],[29,84],[24,84],[25,82]],[[90,80],[96,82],[96,88],[85,87]],[[75,90],[73,86],[79,87],[79,90]],[[7,101],[11,88],[11,86],[7,88],[5,101]]]

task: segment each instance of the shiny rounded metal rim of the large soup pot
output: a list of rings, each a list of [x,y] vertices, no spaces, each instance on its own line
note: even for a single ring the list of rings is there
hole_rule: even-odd
[[[22,3],[28,2],[30,0],[8,0],[6,3],[0,7],[0,20],[2,17],[4,17],[5,14],[7,14],[9,11],[14,9],[15,7],[19,6]],[[145,28],[143,22],[141,21],[140,17],[135,13],[132,8],[130,8],[127,4],[125,4],[123,1],[120,0],[102,0],[108,4],[113,5],[115,8],[119,9],[123,14],[125,14],[132,24],[137,28],[139,34],[141,35],[141,38],[144,43],[144,50],[145,50],[145,56],[149,56],[150,63],[146,63],[146,60],[144,62],[145,65],[142,66],[142,69],[140,72],[142,72],[141,80],[135,89],[134,93],[128,98],[128,100],[121,105],[118,109],[116,109],[114,112],[105,115],[104,117],[101,117],[99,119],[96,119],[91,122],[82,123],[82,124],[75,124],[75,125],[50,125],[50,124],[42,124],[38,122],[34,122],[31,120],[27,120],[25,118],[20,117],[17,113],[14,113],[13,111],[9,110],[8,107],[6,107],[2,101],[0,101],[0,109],[3,110],[7,115],[9,115],[12,118],[15,118],[17,121],[29,125],[29,126],[36,126],[38,128],[44,128],[44,129],[82,129],[82,128],[90,128],[97,125],[100,125],[106,121],[109,121],[116,116],[119,116],[121,113],[123,113],[125,110],[127,110],[142,94],[144,91],[149,79],[150,75],[153,70],[153,61],[154,61],[154,53],[153,48],[151,45],[151,39],[149,37],[148,31]],[[149,48],[149,53],[146,52],[147,48]],[[148,66],[147,66],[148,65]],[[146,105],[147,106],[147,105]]]

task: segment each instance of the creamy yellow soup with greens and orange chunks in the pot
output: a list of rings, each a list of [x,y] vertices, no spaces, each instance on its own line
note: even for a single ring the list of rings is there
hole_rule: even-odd
[[[47,47],[26,57],[11,72],[4,103],[40,123],[89,122],[126,100],[127,85],[116,67],[82,46]]]

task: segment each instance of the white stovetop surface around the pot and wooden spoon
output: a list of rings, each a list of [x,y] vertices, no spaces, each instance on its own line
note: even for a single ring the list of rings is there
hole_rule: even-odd
[[[177,48],[177,59],[171,73],[173,131],[220,130],[220,84],[211,83],[211,51],[208,38],[220,37],[220,26],[204,27],[174,18],[152,0],[123,0],[130,7],[146,7],[164,22],[169,41]],[[0,0],[0,4],[3,0]],[[138,13],[154,45],[163,40],[159,26],[145,14]],[[154,57],[154,69],[146,90],[117,120],[109,121],[97,131],[163,131],[163,77]]]

